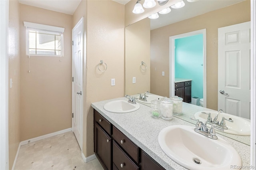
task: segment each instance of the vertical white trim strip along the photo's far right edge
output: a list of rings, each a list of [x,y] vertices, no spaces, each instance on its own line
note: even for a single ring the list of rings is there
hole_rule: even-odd
[[[251,159],[256,166],[256,2],[251,0]]]

